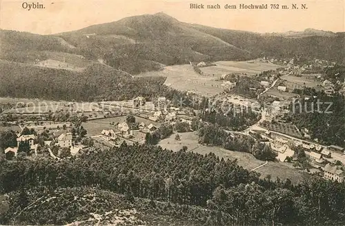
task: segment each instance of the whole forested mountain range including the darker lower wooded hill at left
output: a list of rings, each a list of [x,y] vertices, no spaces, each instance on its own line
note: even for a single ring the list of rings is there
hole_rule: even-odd
[[[155,81],[148,86],[144,79],[124,80],[122,75],[161,70],[166,65],[262,56],[303,55],[335,62],[345,59],[345,33],[300,39],[268,37],[184,23],[164,13],[128,17],[56,35],[0,30],[0,39],[0,78],[6,81],[0,84],[1,95],[63,100],[124,100],[135,97],[134,91],[148,99],[157,93],[165,94],[167,88],[160,78],[151,78]],[[119,84],[121,90],[130,88],[124,93],[114,91],[119,90]],[[34,90],[29,85],[40,88]],[[128,94],[132,86],[137,88]],[[139,87],[150,90],[140,91]]]

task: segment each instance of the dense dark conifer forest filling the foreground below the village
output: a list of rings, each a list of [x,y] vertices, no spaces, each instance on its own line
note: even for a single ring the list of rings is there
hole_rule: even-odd
[[[79,187],[78,201],[73,203],[79,203],[78,197],[86,193],[97,194],[90,200],[99,201],[96,205],[100,209],[106,208],[104,203],[108,200],[105,211],[109,211],[115,194],[105,191],[111,191],[125,194],[132,200],[132,207],[133,203],[139,205],[138,198],[148,198],[151,205],[157,201],[160,205],[170,203],[166,206],[166,215],[172,214],[171,211],[176,213],[178,204],[179,208],[186,208],[184,216],[188,217],[189,213],[190,219],[197,220],[199,225],[344,223],[344,184],[315,178],[291,185],[289,180],[273,182],[258,176],[239,167],[236,161],[219,160],[213,153],[201,156],[147,144],[128,146],[124,143],[108,151],[84,153],[80,158],[59,161],[1,160],[0,192],[13,194],[1,223],[71,223],[79,214],[96,211],[95,205],[76,204],[71,211],[64,208],[76,200],[77,193],[68,190],[72,187]],[[88,187],[103,190],[103,196]],[[37,194],[32,189],[41,191]],[[61,191],[63,194],[58,196]],[[103,198],[100,200],[99,196]],[[61,202],[52,201],[55,198]],[[50,203],[53,204],[47,207]],[[30,210],[32,206],[35,208]],[[113,209],[121,209],[121,206],[117,204]],[[48,214],[52,214],[52,218]]]

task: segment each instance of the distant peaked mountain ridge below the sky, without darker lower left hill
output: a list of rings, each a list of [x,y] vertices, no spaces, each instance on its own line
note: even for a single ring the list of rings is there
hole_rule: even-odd
[[[82,55],[104,59],[128,73],[154,70],[159,64],[186,64],[201,60],[244,60],[266,55],[344,61],[344,33],[291,39],[255,32],[211,28],[178,21],[164,13],[127,17],[119,21],[89,26],[56,35],[0,30],[1,59],[27,62],[40,57],[41,51]],[[41,56],[43,57],[43,56]],[[141,68],[130,68],[138,62]]]

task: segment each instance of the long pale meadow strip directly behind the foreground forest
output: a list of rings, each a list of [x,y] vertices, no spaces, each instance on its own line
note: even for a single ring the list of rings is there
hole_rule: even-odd
[[[219,158],[235,160],[240,166],[245,169],[251,170],[258,167],[265,162],[262,160],[257,160],[250,153],[244,153],[239,151],[229,151],[221,147],[208,147],[200,145],[197,143],[198,137],[194,132],[189,133],[179,133],[181,140],[175,140],[175,134],[170,135],[169,138],[161,140],[159,145],[165,149],[170,149],[172,151],[179,151],[182,147],[188,147],[188,151],[193,151],[194,153],[199,153],[205,155],[207,153],[215,153]],[[287,164],[284,162],[268,162],[264,167],[260,167],[255,170],[261,173],[261,177],[265,178],[270,175],[273,180],[279,177],[281,180],[289,178],[294,184],[301,182],[304,178],[308,177],[307,173],[293,169],[292,164]]]

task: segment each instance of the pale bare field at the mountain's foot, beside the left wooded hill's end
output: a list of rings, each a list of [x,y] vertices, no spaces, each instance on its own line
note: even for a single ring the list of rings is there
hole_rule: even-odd
[[[138,75],[139,77],[162,76],[166,77],[166,86],[180,91],[195,91],[206,96],[213,96],[224,91],[217,77],[206,77],[195,73],[189,64],[166,66],[164,70],[153,71]]]

